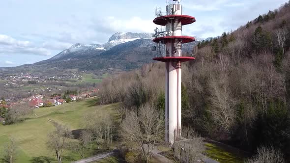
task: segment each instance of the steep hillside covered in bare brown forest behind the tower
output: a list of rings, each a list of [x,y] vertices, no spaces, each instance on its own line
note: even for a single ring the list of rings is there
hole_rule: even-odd
[[[198,45],[182,65],[182,122],[255,154],[273,146],[290,160],[290,1]],[[163,63],[103,81],[103,103],[164,109]]]

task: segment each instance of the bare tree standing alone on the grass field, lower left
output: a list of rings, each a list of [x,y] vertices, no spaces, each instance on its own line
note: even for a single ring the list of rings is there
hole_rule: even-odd
[[[48,134],[47,146],[56,153],[58,163],[61,163],[62,154],[68,144],[68,139],[72,138],[72,133],[67,126],[54,123],[56,130]]]

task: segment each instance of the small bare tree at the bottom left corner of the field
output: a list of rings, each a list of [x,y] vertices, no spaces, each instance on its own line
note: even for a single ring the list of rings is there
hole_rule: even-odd
[[[4,158],[2,159],[2,161],[4,163],[14,163],[15,159],[16,159],[16,143],[15,139],[11,137],[4,149]]]

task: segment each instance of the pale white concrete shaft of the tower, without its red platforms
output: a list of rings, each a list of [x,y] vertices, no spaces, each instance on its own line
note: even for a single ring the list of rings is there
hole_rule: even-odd
[[[180,4],[167,5],[167,15],[181,15]],[[178,19],[168,21],[167,31],[170,36],[181,36],[182,25]],[[182,56],[181,40],[172,39],[166,44],[166,56]],[[174,143],[181,136],[181,62],[171,60],[166,63],[165,97],[165,140]]]

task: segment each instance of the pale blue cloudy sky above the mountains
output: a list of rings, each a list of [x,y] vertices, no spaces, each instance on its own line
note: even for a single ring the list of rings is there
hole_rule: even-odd
[[[215,37],[288,0],[182,0],[197,22],[183,34]],[[75,43],[103,44],[118,31],[153,32],[166,0],[0,0],[0,67],[48,59]]]

